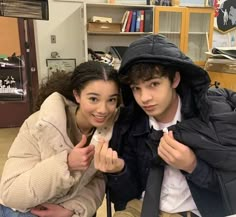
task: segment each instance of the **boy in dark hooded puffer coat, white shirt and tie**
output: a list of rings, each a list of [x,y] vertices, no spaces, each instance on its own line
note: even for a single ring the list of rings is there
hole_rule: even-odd
[[[115,216],[223,217],[235,213],[235,194],[227,195],[229,201],[221,196],[222,191],[233,190],[224,179],[231,165],[225,164],[224,154],[230,150],[222,154],[215,150],[221,144],[215,135],[223,131],[217,131],[221,126],[217,121],[215,128],[209,124],[215,113],[230,112],[235,118],[234,108],[225,100],[227,95],[236,105],[235,94],[225,90],[207,95],[207,72],[161,35],[133,42],[119,72],[125,109],[131,112],[121,111],[110,147],[101,142],[95,150],[95,167],[107,173],[115,209],[123,210],[131,201]],[[214,107],[221,101],[219,109]],[[227,138],[226,134],[221,136]],[[230,138],[231,144],[234,139]],[[215,168],[220,169],[223,183]],[[235,172],[230,176],[235,177]]]

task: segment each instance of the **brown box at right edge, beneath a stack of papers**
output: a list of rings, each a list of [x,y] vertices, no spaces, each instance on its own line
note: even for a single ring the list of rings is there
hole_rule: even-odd
[[[236,73],[236,61],[208,58],[205,64],[205,70],[212,72]]]

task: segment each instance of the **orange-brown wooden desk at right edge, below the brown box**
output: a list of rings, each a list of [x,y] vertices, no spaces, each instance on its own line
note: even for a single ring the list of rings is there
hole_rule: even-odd
[[[211,83],[215,81],[220,82],[221,88],[228,88],[236,91],[236,74],[235,73],[224,73],[224,72],[212,72],[208,71],[211,78]]]

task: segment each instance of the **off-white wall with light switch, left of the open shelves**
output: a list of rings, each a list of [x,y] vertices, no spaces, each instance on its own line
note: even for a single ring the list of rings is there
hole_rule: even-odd
[[[83,0],[49,0],[49,21],[34,21],[39,82],[48,74],[46,59],[57,51],[61,58],[76,58],[77,65],[83,62],[83,23],[80,7]],[[89,0],[87,2],[105,2]],[[56,43],[51,43],[56,35]]]

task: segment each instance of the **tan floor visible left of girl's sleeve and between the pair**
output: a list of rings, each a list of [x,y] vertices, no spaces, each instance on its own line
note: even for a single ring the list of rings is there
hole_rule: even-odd
[[[4,163],[7,159],[8,150],[17,135],[19,128],[0,128],[0,177]],[[105,200],[97,211],[97,217],[106,217]]]

